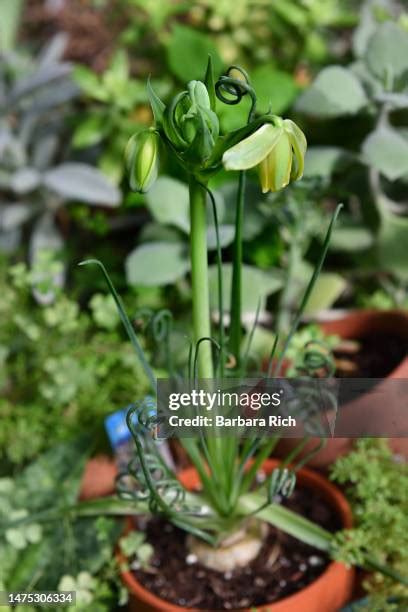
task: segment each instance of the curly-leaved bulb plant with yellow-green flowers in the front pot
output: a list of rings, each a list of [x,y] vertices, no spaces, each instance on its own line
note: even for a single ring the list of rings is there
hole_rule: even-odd
[[[279,190],[291,180],[301,178],[306,139],[302,131],[290,120],[271,113],[256,117],[256,95],[247,75],[232,67],[216,83],[212,74],[211,60],[204,82],[191,81],[185,91],[176,95],[168,106],[157,97],[148,84],[149,97],[155,118],[155,126],[139,132],[130,140],[126,150],[126,164],[133,189],[145,191],[154,182],[158,173],[159,148],[166,147],[174,155],[188,175],[190,190],[190,254],[191,282],[193,293],[193,337],[190,350],[189,376],[191,380],[210,379],[214,375],[225,376],[227,359],[235,364],[233,374],[241,376],[245,371],[245,359],[241,355],[241,274],[242,274],[242,226],[244,223],[245,171],[258,168],[263,191]],[[244,96],[252,104],[247,125],[225,135],[219,133],[216,114],[216,99],[226,104],[238,104]],[[211,330],[207,262],[207,198],[214,198],[208,188],[209,179],[222,168],[238,170],[239,186],[235,224],[234,265],[229,338],[224,329],[223,317],[217,334]],[[335,217],[338,211],[336,211]],[[312,277],[305,299],[301,304],[291,335],[299,322],[301,311],[321,268],[334,219],[330,225],[325,248],[319,265]],[[218,230],[217,219],[215,227]],[[220,314],[222,304],[221,251],[218,247],[218,284]],[[84,263],[92,263],[91,261]],[[146,369],[152,390],[156,381],[147,360],[144,358],[133,328],[123,310],[105,268],[102,268],[115,297],[122,320],[131,341]],[[290,338],[286,339],[286,346]],[[217,351],[217,360],[213,351]],[[276,348],[276,347],[275,347]],[[284,352],[277,363],[279,370]],[[272,355],[273,359],[273,355]],[[149,435],[154,429],[155,419],[149,416],[150,406],[135,405],[128,413],[128,426],[133,434],[137,460],[129,466],[129,473],[137,481],[136,489],[128,489],[127,476],[119,478],[119,490],[125,497],[142,503],[153,513],[159,513],[175,525],[193,535],[190,542],[197,550],[199,539],[212,546],[222,546],[231,533],[246,534],[251,524],[250,517],[269,520],[292,535],[301,537],[310,544],[327,549],[330,536],[309,521],[298,517],[272,503],[275,496],[289,495],[295,477],[287,469],[275,470],[267,483],[256,492],[249,493],[259,467],[269,455],[275,440],[266,443],[249,439],[240,448],[235,438],[184,439],[188,456],[197,469],[203,485],[200,495],[187,492],[178,482],[157,453],[156,443]],[[136,415],[136,425],[135,425]],[[141,435],[141,428],[144,435]],[[248,461],[252,467],[246,471]],[[208,471],[207,468],[208,467]],[[261,532],[258,533],[261,538]],[[197,539],[195,539],[197,538]],[[211,562],[216,566],[217,561]]]

